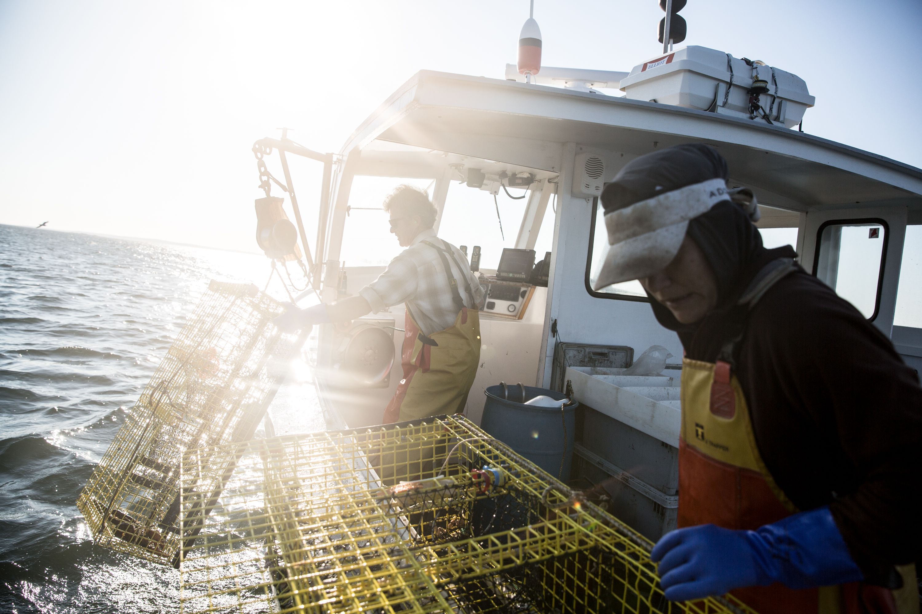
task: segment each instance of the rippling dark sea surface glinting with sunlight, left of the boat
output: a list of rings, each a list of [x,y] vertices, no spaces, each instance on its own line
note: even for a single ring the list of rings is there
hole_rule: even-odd
[[[94,546],[75,501],[208,280],[267,274],[256,255],[0,226],[0,612],[178,611],[179,573]],[[278,430],[323,428],[306,379],[279,392]]]

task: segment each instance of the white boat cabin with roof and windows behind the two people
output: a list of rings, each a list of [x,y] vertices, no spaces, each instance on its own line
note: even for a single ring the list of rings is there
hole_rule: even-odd
[[[591,86],[584,76],[580,83]],[[468,256],[478,246],[484,285],[503,249],[532,249],[536,261],[550,252],[546,287],[531,278],[491,287],[467,417],[480,423],[485,389],[501,382],[569,384],[582,403],[570,481],[605,482],[613,513],[656,539],[675,526],[678,506],[682,350],[638,283],[592,289],[607,241],[597,198],[604,182],[657,148],[715,146],[731,184],[756,193],[765,244],[793,245],[805,269],[856,305],[918,369],[922,329],[893,323],[907,226],[922,224],[922,170],[784,122],[614,94],[421,71],[338,154],[308,152],[325,165],[325,181],[319,211],[302,215],[316,215],[309,266],[327,302],[356,294],[401,250],[380,208],[403,183],[428,191],[439,237],[466,246]],[[263,142],[307,151],[285,139]],[[327,428],[382,422],[402,377],[403,323],[397,306],[314,330],[309,346]],[[623,379],[623,367],[654,345],[672,354],[665,375]],[[616,403],[616,388],[633,396]]]

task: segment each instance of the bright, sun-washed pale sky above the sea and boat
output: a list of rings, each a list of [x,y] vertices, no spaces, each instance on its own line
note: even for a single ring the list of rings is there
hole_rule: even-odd
[[[0,0],[0,223],[256,251],[250,148],[336,152],[420,69],[502,78],[527,0]],[[696,44],[806,80],[808,133],[922,167],[919,0],[689,0]],[[543,64],[656,56],[656,0],[536,0]],[[304,203],[319,165],[301,163]]]

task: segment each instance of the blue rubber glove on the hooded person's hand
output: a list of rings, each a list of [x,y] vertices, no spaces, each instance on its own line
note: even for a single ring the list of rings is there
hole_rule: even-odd
[[[829,507],[787,516],[755,531],[715,525],[671,531],[650,555],[672,601],[723,595],[734,588],[780,582],[788,588],[864,579]]]

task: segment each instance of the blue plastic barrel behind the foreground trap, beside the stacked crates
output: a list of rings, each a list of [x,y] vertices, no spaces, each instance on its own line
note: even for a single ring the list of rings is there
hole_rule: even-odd
[[[534,386],[523,388],[524,399],[518,386],[507,385],[508,399],[503,396],[502,385],[487,388],[480,428],[565,482],[570,479],[573,464],[573,434],[579,403],[574,401],[563,408],[561,416],[560,408],[526,405],[525,401],[542,394],[554,400],[565,400],[567,397],[562,392]]]

